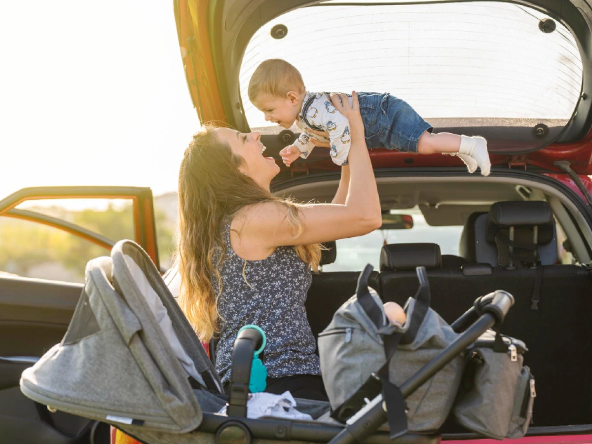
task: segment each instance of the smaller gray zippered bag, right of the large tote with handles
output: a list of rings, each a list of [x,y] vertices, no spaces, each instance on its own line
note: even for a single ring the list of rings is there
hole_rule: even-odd
[[[468,350],[452,408],[462,426],[494,439],[520,438],[532,420],[535,379],[523,365],[526,345],[493,330]]]

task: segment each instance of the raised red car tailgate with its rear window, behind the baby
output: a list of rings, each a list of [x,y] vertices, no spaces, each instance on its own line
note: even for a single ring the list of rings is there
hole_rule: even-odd
[[[592,9],[577,4],[175,0],[175,17],[200,120],[260,130],[274,156],[295,134],[266,126],[246,86],[260,62],[282,57],[313,91],[390,92],[436,132],[484,136],[493,165],[559,171],[554,162],[568,160],[588,175],[592,47],[582,43]],[[460,165],[441,155],[371,156],[375,168]],[[319,149],[291,173],[334,168]]]

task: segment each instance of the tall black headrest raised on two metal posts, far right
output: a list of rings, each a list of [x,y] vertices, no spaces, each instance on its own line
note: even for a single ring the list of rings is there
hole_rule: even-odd
[[[496,242],[501,230],[514,227],[538,227],[538,244],[551,242],[554,237],[553,211],[545,201],[496,202],[491,205],[487,218],[487,242]]]

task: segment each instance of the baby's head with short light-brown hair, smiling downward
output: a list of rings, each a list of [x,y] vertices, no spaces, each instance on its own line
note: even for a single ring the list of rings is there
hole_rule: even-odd
[[[261,63],[249,81],[249,100],[265,120],[289,128],[298,117],[306,89],[298,70],[285,60]]]

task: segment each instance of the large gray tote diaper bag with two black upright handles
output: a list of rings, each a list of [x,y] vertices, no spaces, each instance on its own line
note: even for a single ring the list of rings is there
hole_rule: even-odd
[[[382,392],[391,437],[407,430],[434,432],[451,411],[465,357],[461,354],[454,358],[406,400],[398,387],[458,335],[429,307],[429,285],[423,267],[417,269],[420,289],[404,306],[407,320],[403,326],[387,320],[378,294],[368,287],[371,272],[372,266],[367,265],[356,295],[336,311],[318,336],[321,374],[332,417],[345,422]]]

